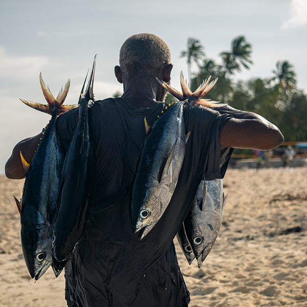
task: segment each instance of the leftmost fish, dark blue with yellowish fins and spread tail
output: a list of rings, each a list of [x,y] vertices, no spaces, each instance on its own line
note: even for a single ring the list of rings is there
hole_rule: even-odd
[[[53,264],[53,219],[59,191],[60,173],[64,161],[56,135],[55,122],[58,115],[76,107],[76,105],[63,105],[69,91],[70,80],[56,98],[53,97],[49,87],[47,89],[41,74],[39,81],[48,105],[20,100],[38,111],[50,114],[52,117],[42,130],[42,138],[31,163],[27,163],[20,152],[26,179],[21,201],[18,201],[14,196],[20,213],[21,247],[28,271],[35,280],[39,279]]]

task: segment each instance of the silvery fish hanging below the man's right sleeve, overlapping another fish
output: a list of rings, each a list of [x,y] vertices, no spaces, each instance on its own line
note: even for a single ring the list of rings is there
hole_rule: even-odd
[[[202,181],[198,187],[184,226],[198,266],[211,251],[222,224],[223,209],[228,195],[224,197],[223,180]]]

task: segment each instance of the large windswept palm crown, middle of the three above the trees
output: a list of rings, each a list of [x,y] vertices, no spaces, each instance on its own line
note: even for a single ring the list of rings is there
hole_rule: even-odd
[[[225,74],[232,75],[234,71],[241,71],[241,65],[245,69],[249,69],[249,64],[252,64],[251,60],[252,46],[246,42],[244,36],[235,37],[231,42],[231,51],[222,52],[223,66]]]

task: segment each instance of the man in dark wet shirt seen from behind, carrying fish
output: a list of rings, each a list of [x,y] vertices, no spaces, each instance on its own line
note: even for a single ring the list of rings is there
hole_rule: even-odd
[[[185,105],[185,129],[191,134],[176,190],[160,221],[139,240],[129,222],[129,186],[145,139],[144,117],[151,126],[162,111],[167,112],[168,105],[163,103],[166,92],[156,77],[169,82],[172,64],[165,42],[147,33],[124,42],[119,62],[115,75],[123,83],[123,96],[94,105],[94,213],[68,262],[65,298],[73,307],[187,306],[189,292],[172,240],[203,175],[206,180],[224,176],[225,167],[223,172],[220,168],[221,146],[268,150],[280,145],[283,136],[277,127],[256,114],[229,106],[217,107],[217,112]],[[75,109],[57,120],[64,151],[73,137],[77,116]],[[14,147],[6,164],[8,178],[25,177],[19,151],[31,161],[40,137],[26,139]],[[95,212],[95,208],[104,210]]]

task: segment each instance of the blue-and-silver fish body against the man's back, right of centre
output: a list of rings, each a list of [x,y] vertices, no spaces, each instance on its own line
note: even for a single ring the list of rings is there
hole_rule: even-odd
[[[185,154],[184,102],[173,103],[148,131],[131,193],[130,218],[134,233],[142,239],[158,223],[167,208]],[[145,188],[144,188],[145,187]]]

